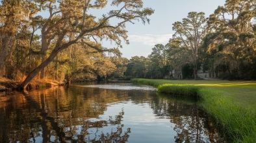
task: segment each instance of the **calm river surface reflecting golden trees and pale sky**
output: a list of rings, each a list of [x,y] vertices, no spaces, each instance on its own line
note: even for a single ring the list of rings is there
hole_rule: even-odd
[[[0,93],[0,142],[224,142],[195,104],[131,83]]]

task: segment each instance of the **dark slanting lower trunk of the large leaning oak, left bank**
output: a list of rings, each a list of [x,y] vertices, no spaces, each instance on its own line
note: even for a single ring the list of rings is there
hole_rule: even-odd
[[[51,61],[54,60],[54,58],[57,56],[58,54],[58,50],[53,50],[53,52],[51,52],[50,56],[43,61],[38,67],[36,67],[36,69],[34,69],[28,76],[27,78],[21,83],[21,85],[19,85],[19,87],[21,89],[25,89],[25,87],[27,87],[27,84],[29,82],[31,82],[31,80],[34,78],[34,76],[36,76],[36,74],[38,74],[40,71],[42,71],[42,69],[44,69],[47,65],[49,65],[49,63],[51,63]]]

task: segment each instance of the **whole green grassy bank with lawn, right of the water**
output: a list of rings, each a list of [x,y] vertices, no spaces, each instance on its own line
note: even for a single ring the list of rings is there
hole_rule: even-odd
[[[211,115],[231,142],[256,142],[256,83],[207,80],[146,80],[133,82],[157,87],[160,93],[198,96],[198,104]]]

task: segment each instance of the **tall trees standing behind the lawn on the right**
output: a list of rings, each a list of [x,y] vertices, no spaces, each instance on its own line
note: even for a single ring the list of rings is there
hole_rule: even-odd
[[[198,70],[228,80],[256,80],[256,2],[227,0],[209,17],[190,12],[173,23],[166,45],[134,56],[125,76],[132,78],[198,78]]]

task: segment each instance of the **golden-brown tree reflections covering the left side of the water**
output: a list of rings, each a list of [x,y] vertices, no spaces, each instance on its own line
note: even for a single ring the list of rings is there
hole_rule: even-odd
[[[123,111],[109,120],[98,119],[107,104],[118,102],[116,94],[88,90],[92,95],[53,88],[11,96],[10,105],[0,109],[0,142],[127,141],[130,129],[121,124]]]

